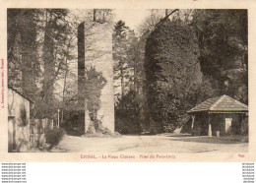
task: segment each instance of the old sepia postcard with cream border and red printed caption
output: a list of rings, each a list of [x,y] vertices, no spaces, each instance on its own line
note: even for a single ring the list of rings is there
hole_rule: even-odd
[[[255,2],[17,2],[2,161],[255,161]]]

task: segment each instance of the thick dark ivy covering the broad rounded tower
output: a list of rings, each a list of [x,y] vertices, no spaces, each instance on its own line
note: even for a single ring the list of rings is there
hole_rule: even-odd
[[[159,132],[172,132],[188,120],[186,111],[199,98],[203,82],[195,32],[181,21],[167,21],[151,33],[146,45],[146,89],[149,121]]]

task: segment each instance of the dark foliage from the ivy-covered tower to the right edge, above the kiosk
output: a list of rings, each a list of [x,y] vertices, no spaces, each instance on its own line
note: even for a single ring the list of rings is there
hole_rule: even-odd
[[[148,121],[160,132],[211,96],[247,103],[247,11],[179,11],[147,39],[145,72]]]

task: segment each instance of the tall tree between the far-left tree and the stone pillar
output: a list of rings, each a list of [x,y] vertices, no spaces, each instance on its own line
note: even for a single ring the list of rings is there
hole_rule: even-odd
[[[56,97],[54,84],[59,79],[61,72],[67,68],[67,59],[70,55],[69,32],[70,24],[66,20],[68,10],[45,9],[44,30],[42,40],[42,89],[40,100],[42,103],[40,117],[52,117],[55,113]],[[46,104],[48,103],[48,104]],[[45,105],[46,104],[46,105]]]

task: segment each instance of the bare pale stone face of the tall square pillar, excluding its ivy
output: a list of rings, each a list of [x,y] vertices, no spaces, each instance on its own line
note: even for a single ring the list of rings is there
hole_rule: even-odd
[[[86,68],[95,67],[106,80],[100,95],[100,109],[97,119],[111,132],[114,132],[114,96],[113,96],[113,59],[112,59],[112,25],[98,24],[92,28],[92,35],[86,36]],[[86,128],[90,120],[86,110]]]

